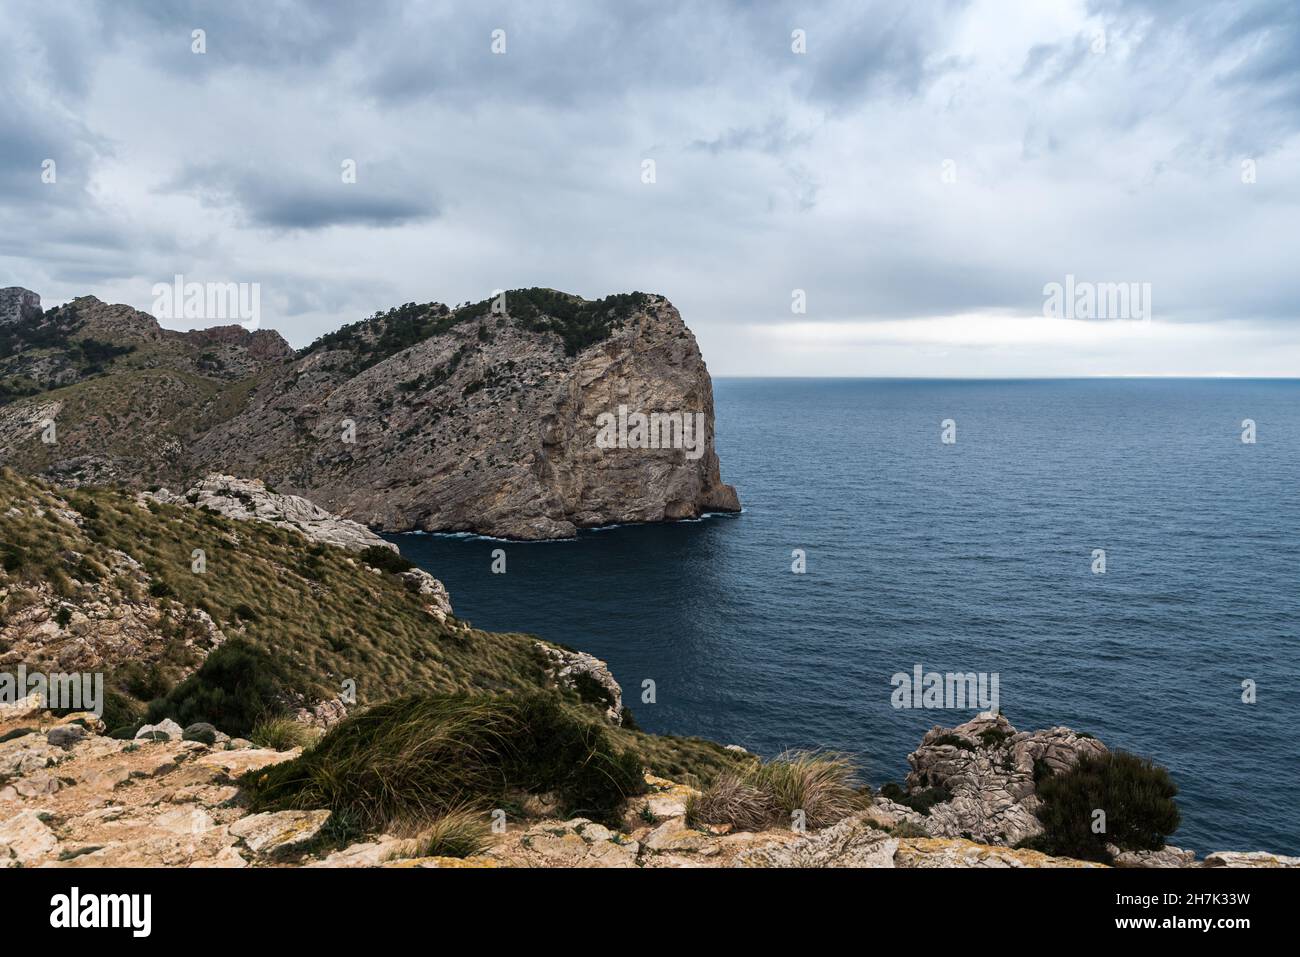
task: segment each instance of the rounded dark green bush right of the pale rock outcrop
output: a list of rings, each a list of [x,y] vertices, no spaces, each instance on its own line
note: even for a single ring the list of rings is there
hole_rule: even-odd
[[[1044,832],[1027,841],[1048,854],[1110,863],[1108,844],[1122,850],[1158,850],[1180,820],[1169,771],[1126,752],[1084,757],[1072,768],[1045,776],[1037,787]],[[1093,811],[1106,814],[1093,833]]]

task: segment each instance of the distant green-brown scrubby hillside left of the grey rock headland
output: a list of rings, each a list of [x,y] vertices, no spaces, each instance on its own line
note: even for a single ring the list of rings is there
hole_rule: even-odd
[[[0,290],[0,463],[60,482],[183,481],[190,439],[291,358],[269,330],[179,333],[94,296],[43,311]]]

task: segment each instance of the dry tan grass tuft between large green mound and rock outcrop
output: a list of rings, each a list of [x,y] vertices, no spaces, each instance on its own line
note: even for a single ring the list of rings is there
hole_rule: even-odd
[[[794,811],[803,811],[805,823],[818,828],[862,806],[863,796],[846,757],[786,752],[766,763],[720,774],[689,802],[686,818],[692,823],[760,831],[783,820],[788,823]]]

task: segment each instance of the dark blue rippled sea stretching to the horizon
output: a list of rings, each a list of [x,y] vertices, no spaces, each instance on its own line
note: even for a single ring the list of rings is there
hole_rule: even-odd
[[[897,710],[892,675],[997,672],[1018,728],[1167,766],[1174,843],[1300,853],[1300,382],[714,387],[741,515],[394,541],[462,618],[604,658],[647,731],[842,749],[880,784],[930,727],[975,714]]]

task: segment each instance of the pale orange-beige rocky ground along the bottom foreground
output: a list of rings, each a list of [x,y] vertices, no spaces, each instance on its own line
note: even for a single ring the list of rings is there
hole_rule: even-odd
[[[980,719],[988,729],[991,718]],[[1005,719],[1004,719],[1005,720]],[[966,731],[961,731],[966,728]],[[971,726],[961,726],[967,733]],[[420,857],[411,841],[378,833],[351,844],[332,839],[328,810],[250,814],[238,779],[290,761],[277,752],[230,740],[211,727],[172,723],[144,728],[136,740],[101,733],[91,714],[55,718],[29,698],[0,707],[0,866],[8,867],[1097,867],[1035,850],[946,833],[949,815],[919,815],[875,797],[864,809],[819,831],[784,827],[736,831],[690,827],[693,789],[646,775],[649,792],[629,802],[621,828],[549,813],[546,796],[528,817],[506,822],[489,848],[465,858]],[[1035,750],[1062,729],[1017,742]],[[1018,732],[1017,732],[1018,733]],[[1035,737],[1037,735],[1037,737]],[[1045,737],[1044,737],[1045,736]],[[182,740],[183,737],[202,740]],[[1050,750],[1050,742],[1046,745]],[[939,749],[953,745],[939,745]],[[958,749],[959,750],[959,749]],[[935,745],[913,765],[936,774]],[[939,755],[950,757],[950,755]],[[975,781],[971,802],[991,791]],[[970,806],[974,804],[967,802]],[[993,801],[1004,811],[1011,800]],[[1004,815],[1006,819],[1014,818]],[[1004,835],[998,835],[1005,837]],[[1300,858],[1221,852],[1196,862],[1166,849],[1121,858],[1122,866],[1296,867]]]

